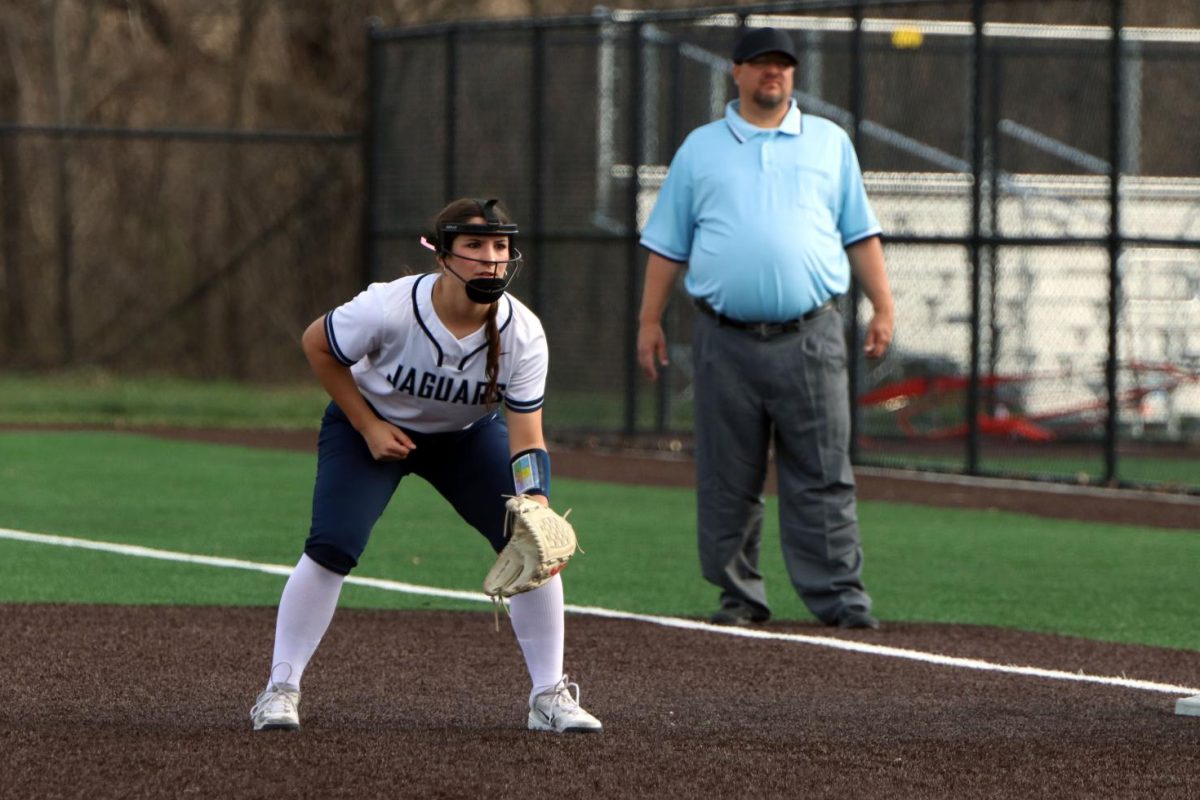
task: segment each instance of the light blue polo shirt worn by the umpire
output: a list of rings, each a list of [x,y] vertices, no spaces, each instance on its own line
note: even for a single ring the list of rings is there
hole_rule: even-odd
[[[641,243],[685,261],[684,287],[734,319],[796,319],[850,288],[846,247],[881,233],[850,137],[794,101],[778,128],[738,114],[692,131]]]

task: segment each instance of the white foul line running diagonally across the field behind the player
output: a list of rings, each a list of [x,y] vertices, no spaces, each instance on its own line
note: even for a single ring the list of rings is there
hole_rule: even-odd
[[[8,530],[0,528],[0,539],[8,539],[18,542],[35,542],[38,545],[55,545],[59,547],[74,547],[89,551],[101,551],[104,553],[116,553],[119,555],[132,555],[137,558],[158,559],[161,561],[181,561],[185,564],[202,564],[205,566],[218,566],[229,570],[250,570],[253,572],[265,572],[268,575],[292,575],[290,566],[282,564],[262,564],[258,561],[244,561],[241,559],[220,558],[215,555],[194,555],[191,553],[179,553],[174,551],[162,551],[152,547],[140,547],[137,545],[119,545],[115,542],[100,542],[90,539],[76,539],[73,536],[52,536],[48,534],[30,534],[22,530]],[[454,589],[436,589],[433,587],[421,587],[400,581],[386,581],[384,578],[361,578],[348,576],[346,583],[358,587],[371,587],[385,591],[400,591],[410,595],[426,595],[431,597],[445,597],[450,600],[467,600],[474,602],[492,602],[491,597],[480,591],[458,591]],[[1031,678],[1049,678],[1051,680],[1070,680],[1084,684],[1100,684],[1105,686],[1121,686],[1124,688],[1139,688],[1147,692],[1163,692],[1166,694],[1200,694],[1200,688],[1192,686],[1176,686],[1174,684],[1158,684],[1148,680],[1135,680],[1132,678],[1109,678],[1104,675],[1088,675],[1082,672],[1062,672],[1058,669],[1042,669],[1039,667],[1015,667],[1009,664],[996,664],[978,658],[959,658],[955,656],[943,656],[936,652],[922,652],[920,650],[908,650],[906,648],[889,648],[866,642],[854,642],[851,639],[836,639],[824,636],[804,636],[802,633],[779,633],[772,631],[757,631],[746,628],[730,628],[708,622],[683,619],[678,616],[655,616],[652,614],[635,614],[631,612],[613,610],[611,608],[599,608],[595,606],[566,606],[566,610],[575,614],[589,616],[604,616],[608,619],[624,619],[638,622],[650,622],[664,627],[677,627],[688,631],[704,631],[706,633],[722,633],[725,636],[740,636],[748,639],[775,639],[780,642],[794,642],[798,644],[811,644],[833,650],[848,650],[852,652],[864,652],[875,656],[892,658],[906,658],[908,661],[920,661],[924,663],[940,664],[943,667],[958,667],[960,669],[979,669],[984,672],[998,672],[1012,675],[1028,675]]]

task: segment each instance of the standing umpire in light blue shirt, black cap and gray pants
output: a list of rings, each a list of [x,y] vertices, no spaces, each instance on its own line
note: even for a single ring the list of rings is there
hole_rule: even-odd
[[[802,114],[796,49],[773,28],[733,50],[738,100],[692,131],[642,231],[649,251],[637,357],[667,363],[662,311],[679,273],[698,309],[692,337],[700,561],[720,588],[712,621],[769,619],[758,571],[774,447],[784,560],[821,621],[875,628],[863,585],[844,323],[851,270],[874,307],[865,354],[892,341],[880,223],[846,133]]]

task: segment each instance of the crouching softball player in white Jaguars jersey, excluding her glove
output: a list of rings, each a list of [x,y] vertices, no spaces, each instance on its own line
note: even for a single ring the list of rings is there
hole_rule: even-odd
[[[300,679],[401,479],[432,483],[496,552],[505,495],[548,504],[546,336],[505,291],[521,261],[517,225],[494,199],[461,199],[433,229],[421,243],[439,270],[372,284],[304,333],[332,402],[318,439],[312,527],[280,600],[271,672],[251,709],[254,730],[300,727]],[[533,684],[528,727],[599,732],[563,673],[562,577],[514,596],[510,609]]]

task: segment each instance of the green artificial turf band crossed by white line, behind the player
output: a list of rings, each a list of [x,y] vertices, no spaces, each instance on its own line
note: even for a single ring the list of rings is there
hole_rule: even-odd
[[[0,528],[290,566],[308,524],[311,455],[103,432],[0,433]],[[556,480],[586,551],[568,602],[703,616],[690,489]],[[1069,501],[1069,500],[1064,500]],[[788,587],[768,499],[763,571],[778,618],[810,619]],[[1200,650],[1200,531],[862,503],[864,577],[884,620],[995,625]],[[274,604],[275,575],[0,540],[0,602]],[[406,480],[355,575],[478,591],[492,561],[421,480]],[[344,606],[478,608],[347,587]]]

